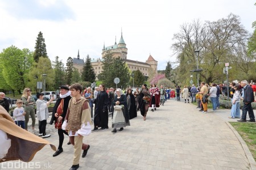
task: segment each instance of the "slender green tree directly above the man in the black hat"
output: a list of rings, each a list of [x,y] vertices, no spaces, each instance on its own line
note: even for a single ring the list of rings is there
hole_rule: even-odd
[[[55,72],[55,88],[57,89],[62,84],[65,84],[65,68],[64,63],[59,60],[59,57],[55,57],[55,61],[53,61],[53,70]]]

